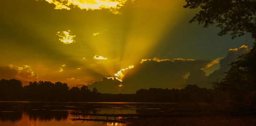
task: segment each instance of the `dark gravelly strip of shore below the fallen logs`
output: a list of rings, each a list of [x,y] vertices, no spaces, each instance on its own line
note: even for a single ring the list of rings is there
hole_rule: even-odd
[[[124,119],[126,126],[255,126],[254,115],[210,115],[193,117],[139,117]]]

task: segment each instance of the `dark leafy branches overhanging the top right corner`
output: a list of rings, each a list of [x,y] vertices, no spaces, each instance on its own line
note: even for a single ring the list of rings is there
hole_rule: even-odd
[[[184,8],[201,10],[189,21],[197,21],[208,27],[217,24],[221,28],[218,35],[232,32],[232,39],[243,36],[245,32],[256,39],[256,1],[255,0],[185,0]]]

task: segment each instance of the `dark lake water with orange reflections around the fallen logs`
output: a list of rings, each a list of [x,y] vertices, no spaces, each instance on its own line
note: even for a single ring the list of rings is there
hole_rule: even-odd
[[[0,101],[0,125],[122,126],[122,123],[116,122],[72,121],[70,118],[78,118],[78,116],[70,113],[138,114],[170,111],[183,107],[185,106],[175,103]],[[89,116],[80,116],[80,118],[90,119]],[[120,118],[118,117],[118,119]],[[106,119],[106,117],[98,117],[98,119]],[[114,117],[108,117],[108,119],[115,120]]]

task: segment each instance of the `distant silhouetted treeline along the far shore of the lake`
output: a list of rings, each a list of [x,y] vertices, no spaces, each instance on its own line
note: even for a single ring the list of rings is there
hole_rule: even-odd
[[[22,86],[19,80],[0,81],[0,100],[83,101],[83,102],[215,102],[212,89],[187,85],[184,89],[140,89],[135,94],[102,94],[87,86],[69,88],[66,83],[34,81]]]

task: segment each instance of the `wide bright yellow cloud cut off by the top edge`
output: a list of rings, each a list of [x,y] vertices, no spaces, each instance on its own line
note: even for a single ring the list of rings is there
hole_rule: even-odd
[[[38,0],[37,0],[38,1]],[[44,0],[55,5],[54,9],[66,9],[78,7],[81,10],[109,9],[117,14],[117,9],[124,6],[127,0]]]

